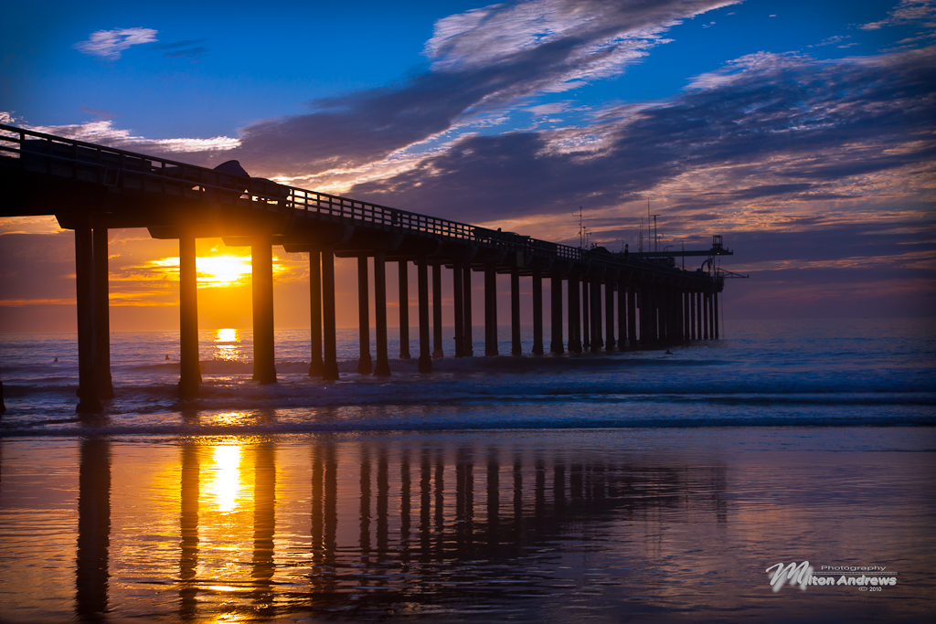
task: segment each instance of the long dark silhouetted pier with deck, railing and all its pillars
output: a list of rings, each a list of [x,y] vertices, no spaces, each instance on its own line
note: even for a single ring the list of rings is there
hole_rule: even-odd
[[[475,355],[473,280],[484,284],[483,333],[478,332],[483,336],[483,354],[502,355],[498,350],[498,274],[510,279],[511,356],[522,355],[520,281],[527,279],[532,280],[534,356],[546,356],[547,346],[555,356],[719,338],[718,296],[724,289],[724,274],[712,268],[711,258],[732,254],[721,237],[714,237],[711,249],[695,252],[614,254],[604,248],[582,249],[251,178],[235,161],[214,169],[196,167],[2,124],[0,183],[5,194],[0,216],[53,214],[59,225],[74,230],[79,412],[99,412],[101,401],[113,397],[108,230],[114,228],[146,227],[156,239],[179,241],[179,392],[183,399],[196,397],[201,384],[198,238],[220,238],[226,245],[251,247],[254,379],[259,384],[276,383],[273,246],[309,256],[309,374],[325,380],[336,380],[339,375],[335,257],[358,261],[361,374],[390,375],[388,263],[397,265],[400,276],[396,295],[402,358],[411,356],[408,283],[410,271],[416,270],[420,372],[431,372],[432,359],[446,356],[446,351],[455,357]],[[673,258],[679,255],[708,256],[709,270],[678,268]],[[455,318],[454,343],[447,346],[442,333],[443,270],[452,271]],[[372,279],[373,356],[368,300]],[[544,280],[549,284],[551,313],[548,345],[543,335]]]

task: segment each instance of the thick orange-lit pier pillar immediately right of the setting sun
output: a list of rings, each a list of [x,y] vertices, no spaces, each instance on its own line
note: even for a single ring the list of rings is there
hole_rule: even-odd
[[[273,245],[269,236],[251,245],[254,290],[254,380],[276,383],[273,344]]]

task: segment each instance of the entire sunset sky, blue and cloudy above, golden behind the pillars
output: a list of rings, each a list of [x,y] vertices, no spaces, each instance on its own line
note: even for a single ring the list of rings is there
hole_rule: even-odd
[[[663,244],[736,252],[729,324],[936,315],[936,0],[14,3],[0,51],[3,123],[569,244],[581,206],[612,251],[649,199]],[[198,254],[200,326],[249,327],[249,248]],[[110,256],[111,327],[178,328],[175,241]],[[71,232],[0,219],[0,332],[74,300]]]

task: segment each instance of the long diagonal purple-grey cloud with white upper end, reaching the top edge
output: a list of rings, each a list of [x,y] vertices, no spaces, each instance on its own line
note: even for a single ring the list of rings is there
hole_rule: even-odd
[[[363,167],[538,94],[620,75],[680,20],[729,4],[543,0],[473,9],[436,23],[428,71],[248,125],[240,151],[268,176]]]

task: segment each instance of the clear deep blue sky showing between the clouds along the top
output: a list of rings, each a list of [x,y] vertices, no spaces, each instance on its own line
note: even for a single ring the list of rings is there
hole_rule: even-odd
[[[520,6],[543,3],[519,3]],[[815,58],[873,54],[919,27],[856,26],[894,2],[744,2],[666,27],[638,62],[542,103],[640,102],[680,93],[696,75],[758,51]],[[147,138],[234,136],[258,119],[300,114],[317,98],[354,94],[426,71],[433,26],[483,3],[18,3],[5,10],[3,109],[27,123],[110,118]],[[156,31],[114,55],[75,45],[98,31]],[[841,40],[826,43],[835,37]],[[823,45],[825,43],[825,45]]]

